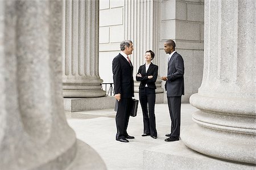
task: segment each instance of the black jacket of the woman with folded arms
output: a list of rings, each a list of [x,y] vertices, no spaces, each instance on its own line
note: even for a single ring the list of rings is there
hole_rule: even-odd
[[[141,82],[139,84],[139,89],[142,89],[147,84],[148,88],[156,89],[155,81],[158,78],[158,66],[154,65],[153,63],[150,64],[146,73],[146,64],[139,66],[138,73],[141,73],[142,77],[136,76],[136,80]],[[152,79],[148,79],[147,76],[152,75]]]

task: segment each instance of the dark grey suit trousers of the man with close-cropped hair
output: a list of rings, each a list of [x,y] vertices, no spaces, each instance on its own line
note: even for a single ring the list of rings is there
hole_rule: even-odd
[[[171,137],[180,136],[181,96],[167,97],[171,117]]]

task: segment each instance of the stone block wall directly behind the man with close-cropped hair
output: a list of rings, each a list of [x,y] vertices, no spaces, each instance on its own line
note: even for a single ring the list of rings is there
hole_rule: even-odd
[[[160,75],[167,73],[164,41],[176,42],[176,50],[184,59],[185,95],[183,103],[197,92],[203,78],[204,1],[161,1]],[[166,97],[164,97],[166,100]]]

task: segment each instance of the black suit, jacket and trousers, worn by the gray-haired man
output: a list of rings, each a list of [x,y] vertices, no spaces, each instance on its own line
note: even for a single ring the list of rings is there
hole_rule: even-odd
[[[112,70],[115,94],[121,94],[117,115],[115,116],[117,124],[116,139],[120,139],[128,135],[126,129],[130,117],[131,97],[134,96],[133,65],[119,53],[113,59]]]

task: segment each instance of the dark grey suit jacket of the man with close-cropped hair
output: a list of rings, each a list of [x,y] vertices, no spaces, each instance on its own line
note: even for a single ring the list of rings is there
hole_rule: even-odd
[[[184,61],[175,52],[168,62],[168,80],[166,81],[167,97],[184,95]]]

